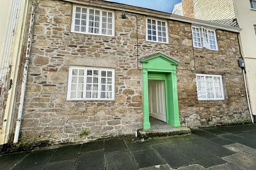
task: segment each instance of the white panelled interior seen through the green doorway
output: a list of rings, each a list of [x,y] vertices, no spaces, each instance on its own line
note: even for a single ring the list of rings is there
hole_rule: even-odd
[[[166,122],[165,88],[163,80],[148,81],[149,116]]]

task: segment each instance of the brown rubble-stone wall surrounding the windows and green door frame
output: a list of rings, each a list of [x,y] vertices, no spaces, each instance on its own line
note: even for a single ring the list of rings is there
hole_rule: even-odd
[[[142,128],[135,17],[127,15],[124,20],[123,11],[116,10],[114,37],[84,35],[70,32],[71,3],[36,2],[21,142],[84,141],[78,137],[83,128],[90,132],[87,138],[134,134]],[[169,20],[169,43],[152,43],[145,36],[147,16],[137,16],[139,56],[161,52],[180,62],[177,79],[182,125],[185,118],[191,128],[250,121],[243,74],[237,64],[241,57],[237,33],[217,30],[219,51],[194,48],[193,52],[190,24]],[[115,100],[67,101],[68,68],[74,65],[115,69]],[[198,101],[196,73],[223,75],[226,99]]]

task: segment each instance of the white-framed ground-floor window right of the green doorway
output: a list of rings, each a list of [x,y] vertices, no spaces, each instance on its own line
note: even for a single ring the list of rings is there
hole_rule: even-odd
[[[196,74],[198,100],[223,100],[221,75]]]

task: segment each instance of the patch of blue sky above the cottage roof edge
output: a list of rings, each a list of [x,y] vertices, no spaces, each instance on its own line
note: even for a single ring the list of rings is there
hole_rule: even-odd
[[[107,0],[127,5],[145,7],[157,11],[172,12],[173,6],[181,0]]]

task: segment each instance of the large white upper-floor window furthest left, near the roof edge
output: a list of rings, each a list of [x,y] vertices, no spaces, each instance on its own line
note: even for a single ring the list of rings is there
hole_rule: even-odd
[[[86,6],[73,6],[71,30],[91,35],[114,36],[115,16],[113,11]]]

